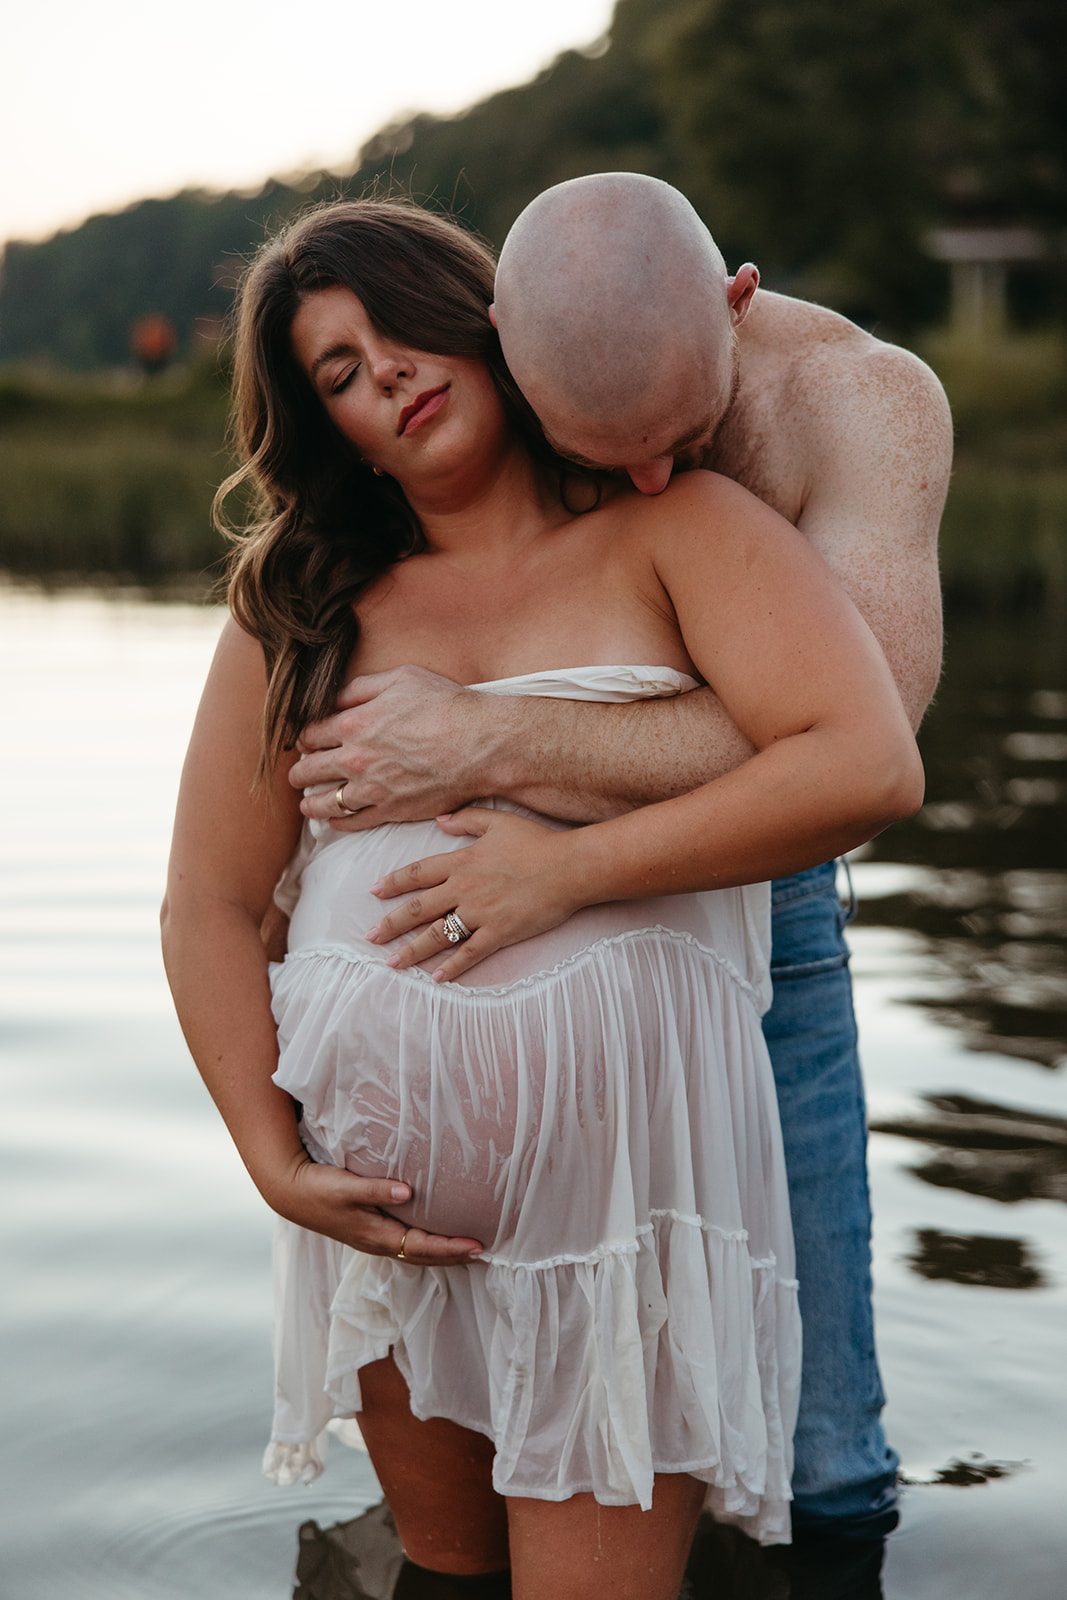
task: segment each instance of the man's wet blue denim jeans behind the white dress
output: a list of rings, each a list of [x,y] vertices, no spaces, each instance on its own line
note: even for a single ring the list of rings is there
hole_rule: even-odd
[[[853,912],[838,902],[832,861],[779,878],[771,906],[774,1002],[763,1034],[782,1118],[805,1330],[793,1522],[867,1518],[872,1531],[888,1533],[897,1456],[881,1430],[870,1307],[867,1117],[843,933]]]

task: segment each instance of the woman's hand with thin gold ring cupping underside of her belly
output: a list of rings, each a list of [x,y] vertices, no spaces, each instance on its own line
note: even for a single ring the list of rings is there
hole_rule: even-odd
[[[397,1256],[418,1267],[448,1267],[477,1259],[477,1238],[446,1238],[421,1227],[405,1227],[389,1206],[411,1200],[411,1187],[389,1178],[358,1178],[344,1166],[323,1162],[299,1162],[285,1181],[270,1184],[264,1198],[278,1216],[325,1234],[366,1256]]]

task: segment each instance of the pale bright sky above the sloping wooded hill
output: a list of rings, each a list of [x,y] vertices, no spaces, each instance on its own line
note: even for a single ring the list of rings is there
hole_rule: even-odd
[[[0,243],[147,195],[350,166],[592,43],[613,0],[0,0]]]

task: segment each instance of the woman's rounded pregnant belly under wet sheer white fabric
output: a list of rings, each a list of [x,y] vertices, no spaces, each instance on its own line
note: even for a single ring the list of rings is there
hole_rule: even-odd
[[[749,978],[765,971],[765,896],[587,907],[461,982],[394,971],[365,938],[381,917],[371,883],[466,843],[405,824],[338,835],[317,851],[290,957],[272,971],[275,1082],[302,1102],[317,1158],[402,1178],[413,1198],[394,1214],[491,1250],[514,1235],[531,1176],[552,1170],[560,1194],[576,1166],[611,1173],[635,1106],[648,1136],[641,1106],[661,1075],[685,1070],[680,1032],[705,1032],[717,984],[750,1014],[760,1008]],[[589,1218],[590,1248],[600,1226]]]

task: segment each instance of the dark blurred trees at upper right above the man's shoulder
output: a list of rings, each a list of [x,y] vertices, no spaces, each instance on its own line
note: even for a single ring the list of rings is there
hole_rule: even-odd
[[[931,226],[1067,224],[1062,0],[683,0],[645,48],[726,258],[859,320],[939,318]]]

